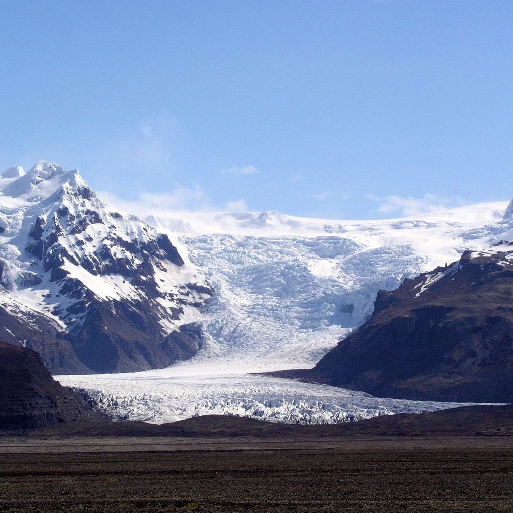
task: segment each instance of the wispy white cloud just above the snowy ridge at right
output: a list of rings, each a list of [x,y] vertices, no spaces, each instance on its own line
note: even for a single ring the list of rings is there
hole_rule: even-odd
[[[424,194],[422,198],[407,196],[385,196],[380,198],[369,194],[368,200],[379,203],[377,212],[384,215],[409,217],[428,212],[438,212],[449,208],[462,207],[465,203],[461,198],[441,198],[436,194]]]

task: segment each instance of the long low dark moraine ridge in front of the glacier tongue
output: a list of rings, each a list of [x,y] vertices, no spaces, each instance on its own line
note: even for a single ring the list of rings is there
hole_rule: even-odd
[[[342,424],[303,426],[244,417],[207,415],[173,422],[73,423],[39,431],[42,436],[172,437],[319,440],[325,437],[511,437],[513,405],[463,406],[429,413],[398,413]]]

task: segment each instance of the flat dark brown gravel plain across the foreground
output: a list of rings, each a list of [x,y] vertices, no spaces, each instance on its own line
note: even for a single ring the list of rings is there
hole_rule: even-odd
[[[513,439],[0,438],[0,511],[511,511]]]

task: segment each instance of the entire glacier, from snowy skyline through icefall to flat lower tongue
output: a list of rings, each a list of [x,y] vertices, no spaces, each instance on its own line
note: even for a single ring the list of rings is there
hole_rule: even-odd
[[[117,418],[155,423],[205,413],[341,422],[453,406],[249,373],[313,366],[370,315],[379,289],[507,240],[513,221],[503,220],[506,207],[365,222],[269,212],[150,218],[160,231],[181,232],[215,291],[203,308],[208,344],[193,360],[159,371],[58,379],[89,390]]]

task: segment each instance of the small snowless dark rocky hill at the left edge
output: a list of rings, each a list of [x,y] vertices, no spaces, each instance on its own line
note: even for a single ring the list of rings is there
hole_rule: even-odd
[[[39,354],[0,342],[0,430],[105,421],[54,381]]]

